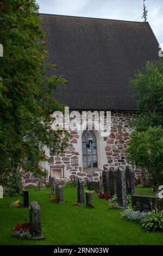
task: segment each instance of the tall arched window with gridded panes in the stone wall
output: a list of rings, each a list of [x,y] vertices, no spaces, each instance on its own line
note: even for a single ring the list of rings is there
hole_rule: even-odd
[[[92,162],[93,167],[97,167],[97,143],[96,136],[93,131],[86,130],[82,136],[82,148],[83,148],[83,168],[91,167],[91,150],[87,147],[89,144],[88,137],[92,137]]]

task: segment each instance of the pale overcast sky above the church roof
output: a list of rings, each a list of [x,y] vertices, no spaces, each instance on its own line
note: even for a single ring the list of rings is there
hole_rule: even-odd
[[[136,21],[143,0],[36,0],[40,13]],[[148,22],[163,48],[163,0],[146,0]],[[137,21],[142,21],[141,17]]]

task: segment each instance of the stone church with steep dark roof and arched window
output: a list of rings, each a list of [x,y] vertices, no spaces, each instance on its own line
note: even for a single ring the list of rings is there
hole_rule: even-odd
[[[54,98],[70,111],[111,111],[111,133],[97,130],[71,131],[72,139],[62,156],[49,156],[49,175],[64,185],[78,175],[91,177],[91,156],[87,138],[92,136],[93,179],[102,170],[126,166],[125,149],[130,138],[128,122],[136,117],[136,99],[129,84],[135,71],[149,60],[158,59],[159,43],[147,22],[94,19],[40,14],[46,32],[49,62],[57,64],[57,75],[68,81],[54,92]],[[49,71],[49,75],[52,75]],[[46,149],[48,154],[48,149]],[[140,171],[135,170],[139,179]],[[35,184],[32,174],[25,186]]]

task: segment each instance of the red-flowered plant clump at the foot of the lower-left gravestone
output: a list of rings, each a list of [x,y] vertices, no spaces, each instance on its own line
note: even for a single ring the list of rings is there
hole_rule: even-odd
[[[16,226],[11,229],[11,232],[17,239],[29,240],[34,233],[34,227],[32,223],[27,223],[27,220],[24,221],[23,224],[16,224]]]

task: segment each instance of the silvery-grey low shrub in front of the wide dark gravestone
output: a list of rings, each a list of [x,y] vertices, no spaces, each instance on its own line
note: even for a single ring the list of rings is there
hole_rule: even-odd
[[[128,221],[142,222],[147,215],[147,212],[133,211],[132,209],[126,209],[123,211],[122,217]]]

